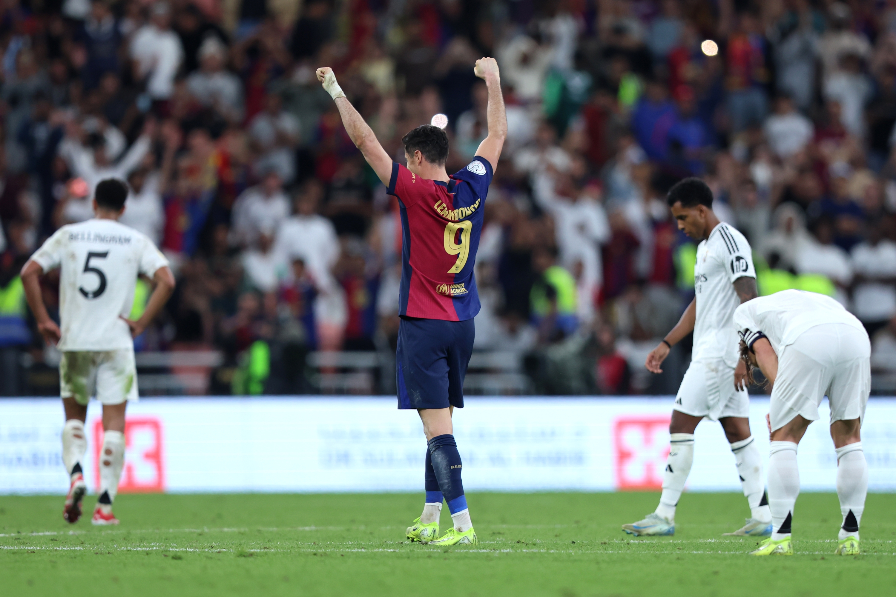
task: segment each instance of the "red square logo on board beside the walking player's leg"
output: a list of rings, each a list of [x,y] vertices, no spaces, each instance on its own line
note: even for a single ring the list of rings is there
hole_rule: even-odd
[[[669,417],[620,417],[613,423],[617,490],[656,490],[669,455]]]

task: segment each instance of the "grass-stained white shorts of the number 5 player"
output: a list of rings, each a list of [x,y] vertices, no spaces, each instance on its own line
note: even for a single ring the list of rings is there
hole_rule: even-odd
[[[59,361],[59,395],[87,405],[96,396],[104,405],[138,400],[134,348],[67,351]]]

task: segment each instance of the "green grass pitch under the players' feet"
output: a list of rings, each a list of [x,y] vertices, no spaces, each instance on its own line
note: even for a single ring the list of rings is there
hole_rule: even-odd
[[[797,501],[792,558],[722,537],[743,496],[689,493],[675,537],[619,530],[655,493],[472,493],[479,544],[404,541],[423,495],[122,495],[117,527],[62,519],[62,498],[0,498],[0,594],[892,595],[896,495],[868,496],[859,557],[833,555],[837,497]],[[85,507],[93,506],[93,498]],[[443,511],[443,529],[450,524]]]

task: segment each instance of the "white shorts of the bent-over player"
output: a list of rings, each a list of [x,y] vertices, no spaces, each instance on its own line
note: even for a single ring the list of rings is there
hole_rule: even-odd
[[[797,414],[816,421],[825,396],[831,422],[864,419],[870,393],[871,342],[865,330],[845,323],[817,325],[778,355],[771,429],[780,429]]]

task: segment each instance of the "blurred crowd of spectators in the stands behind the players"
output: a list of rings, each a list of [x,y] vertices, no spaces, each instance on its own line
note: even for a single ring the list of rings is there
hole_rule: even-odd
[[[689,346],[662,375],[642,363],[694,296],[665,194],[698,175],[760,292],[847,305],[877,388],[896,389],[893,0],[4,0],[0,52],[7,380],[55,358],[18,270],[108,176],[178,280],[138,350],[220,350],[217,391],[241,393],[314,391],[312,351],[392,352],[397,204],[314,69],[397,161],[405,132],[447,115],[451,173],[487,133],[472,66],[492,55],[508,138],[477,349],[518,354],[533,392],[674,392]],[[56,303],[57,277],[44,290]]]

